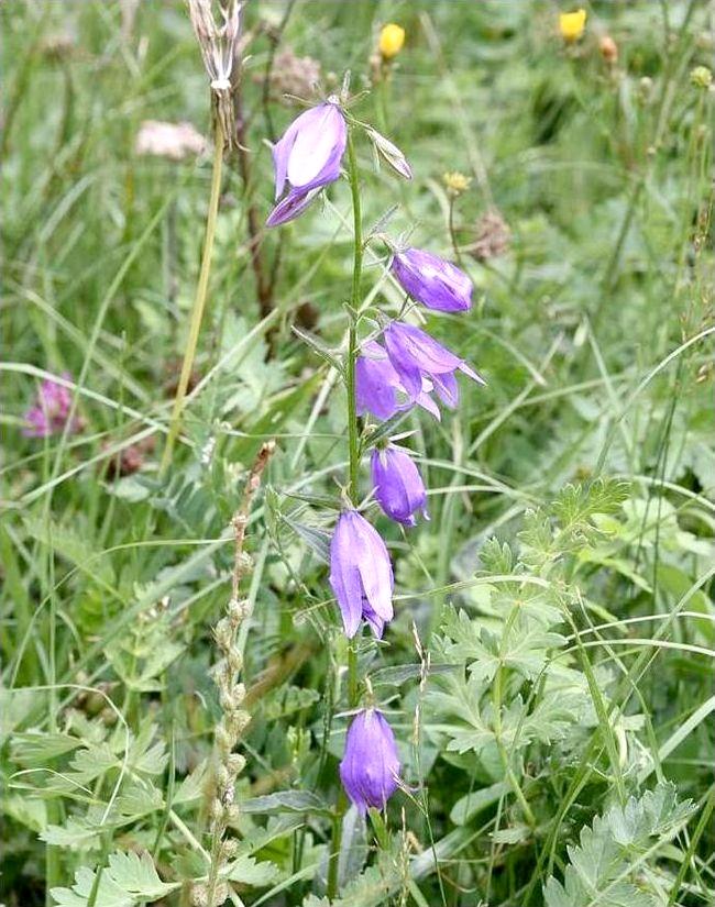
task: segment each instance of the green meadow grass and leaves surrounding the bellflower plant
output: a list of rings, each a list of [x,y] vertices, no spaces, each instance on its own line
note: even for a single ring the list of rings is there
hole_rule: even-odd
[[[399,427],[431,522],[378,520],[397,615],[361,676],[395,728],[404,789],[384,821],[348,814],[337,903],[714,902],[713,93],[693,74],[712,59],[713,10],[593,2],[566,45],[565,9],[248,3],[245,151],[227,159],[194,392],[160,477],[211,155],[135,143],[150,119],[210,131],[188,16],[179,0],[2,3],[9,907],[201,903],[211,628],[231,516],[268,439],[222,894],[327,904],[346,699],[322,554],[345,401],[293,329],[340,345],[352,237],[344,180],[264,232],[266,140],[299,109],[283,92],[306,97],[287,48],[315,59],[324,92],[351,70],[351,110],[408,156],[415,180],[398,185],[359,144],[365,224],[398,200],[393,233],[459,252],[476,305],[429,327],[488,380],[441,423]],[[376,82],[388,21],[407,41]],[[472,179],[458,198],[452,170]],[[363,295],[398,305],[367,265]],[[82,430],[24,436],[40,380],[65,372]]]

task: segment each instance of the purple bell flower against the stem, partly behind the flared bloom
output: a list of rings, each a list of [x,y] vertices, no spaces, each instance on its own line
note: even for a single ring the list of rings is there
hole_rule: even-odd
[[[409,409],[417,402],[439,419],[439,408],[429,396],[431,389],[431,383],[425,380],[417,397],[410,399],[387,357],[385,347],[374,340],[363,343],[362,355],[355,362],[355,400],[359,416],[372,412],[378,419],[391,419],[396,412]]]

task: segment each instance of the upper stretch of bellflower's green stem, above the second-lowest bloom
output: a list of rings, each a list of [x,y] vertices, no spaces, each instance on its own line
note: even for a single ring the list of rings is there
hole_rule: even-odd
[[[363,267],[363,228],[362,206],[360,202],[360,176],[352,133],[348,133],[348,161],[350,190],[352,192],[354,255],[352,272],[352,291],[350,294],[350,328],[348,332],[348,360],[345,362],[345,387],[348,390],[348,444],[350,456],[349,495],[358,504],[358,471],[360,468],[360,438],[358,427],[358,408],[355,402],[355,360],[358,358],[358,309],[360,307],[360,281]]]

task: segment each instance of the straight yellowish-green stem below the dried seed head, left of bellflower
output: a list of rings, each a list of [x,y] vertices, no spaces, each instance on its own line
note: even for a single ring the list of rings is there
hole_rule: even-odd
[[[164,475],[172,462],[172,453],[174,444],[182,428],[182,412],[184,410],[184,401],[186,399],[186,391],[191,377],[191,369],[194,368],[194,358],[196,356],[196,347],[199,340],[199,332],[201,330],[201,321],[204,319],[204,309],[206,308],[206,297],[209,288],[209,276],[211,273],[211,257],[213,255],[213,239],[216,235],[216,221],[219,213],[219,195],[221,190],[221,170],[223,166],[223,130],[221,129],[220,118],[216,118],[216,136],[213,148],[213,172],[211,175],[211,195],[209,197],[209,211],[206,219],[206,235],[204,239],[204,254],[201,256],[201,269],[199,272],[199,281],[196,287],[196,298],[194,299],[194,308],[191,309],[191,322],[189,324],[189,335],[186,341],[186,350],[184,351],[184,362],[182,364],[182,375],[179,377],[178,387],[176,388],[176,397],[174,398],[174,408],[172,410],[172,420],[169,422],[168,436],[166,439],[166,446],[164,447],[164,455],[162,457],[162,465],[160,467],[160,475]]]

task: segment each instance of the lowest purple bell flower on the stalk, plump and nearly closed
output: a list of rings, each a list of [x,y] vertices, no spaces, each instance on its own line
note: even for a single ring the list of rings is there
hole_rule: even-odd
[[[361,816],[367,807],[384,809],[399,785],[395,734],[377,709],[364,709],[345,737],[340,779]]]

